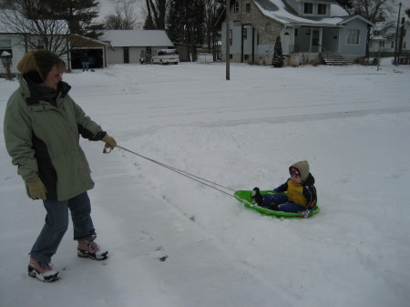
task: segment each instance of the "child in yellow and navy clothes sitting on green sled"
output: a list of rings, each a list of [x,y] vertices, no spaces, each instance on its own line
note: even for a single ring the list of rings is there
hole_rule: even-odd
[[[289,168],[291,178],[273,191],[274,194],[261,194],[259,188],[252,191],[252,199],[264,208],[282,212],[301,213],[307,218],[316,206],[317,196],[314,178],[309,172],[309,163],[299,161]],[[286,192],[279,194],[279,192]]]

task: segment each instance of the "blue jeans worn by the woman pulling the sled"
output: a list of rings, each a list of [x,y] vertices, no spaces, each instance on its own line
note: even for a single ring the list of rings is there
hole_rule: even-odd
[[[95,236],[87,192],[65,201],[44,200],[46,223],[30,252],[37,261],[49,263],[68,228],[68,210],[73,220],[74,240]]]

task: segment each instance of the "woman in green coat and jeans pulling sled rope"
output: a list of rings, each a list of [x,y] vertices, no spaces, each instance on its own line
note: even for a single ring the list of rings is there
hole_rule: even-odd
[[[5,146],[12,163],[26,182],[28,196],[43,200],[46,223],[31,252],[28,275],[56,281],[58,271],[49,264],[68,227],[68,210],[78,241],[77,255],[101,261],[108,251],[95,242],[87,190],[94,187],[79,135],[117,143],[86,116],[68,96],[62,81],[65,62],[47,50],[30,51],[17,65],[20,87],[5,109]]]

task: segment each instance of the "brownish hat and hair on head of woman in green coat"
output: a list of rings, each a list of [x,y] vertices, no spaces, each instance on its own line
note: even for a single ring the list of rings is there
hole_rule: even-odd
[[[55,66],[60,68],[61,72],[66,71],[66,63],[55,53],[48,50],[33,50],[23,56],[17,64],[17,69],[23,75],[38,73],[39,77],[46,81],[48,73]]]

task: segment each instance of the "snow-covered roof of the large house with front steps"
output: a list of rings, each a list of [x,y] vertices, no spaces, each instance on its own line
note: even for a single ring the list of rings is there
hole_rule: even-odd
[[[302,2],[302,0],[293,0]],[[330,4],[330,15],[325,17],[307,17],[298,15],[286,0],[253,0],[261,13],[281,24],[298,24],[300,26],[341,26],[353,16],[333,0],[321,0]],[[364,19],[362,17],[362,19]],[[364,19],[364,21],[366,21]],[[368,22],[368,21],[366,21]]]

